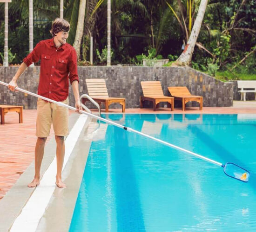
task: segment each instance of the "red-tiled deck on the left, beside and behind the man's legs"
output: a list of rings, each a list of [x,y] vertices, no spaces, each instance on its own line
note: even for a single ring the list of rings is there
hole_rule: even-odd
[[[16,112],[0,125],[0,199],[34,160],[36,110],[23,110],[23,123]],[[50,138],[54,135],[51,129]]]

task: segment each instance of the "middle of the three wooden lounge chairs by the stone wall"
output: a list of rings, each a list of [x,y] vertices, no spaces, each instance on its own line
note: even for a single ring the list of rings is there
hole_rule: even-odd
[[[141,88],[144,95],[140,97],[141,108],[143,108],[143,101],[151,101],[154,111],[160,102],[168,102],[171,104],[171,111],[174,109],[174,97],[163,95],[160,81],[141,81]]]

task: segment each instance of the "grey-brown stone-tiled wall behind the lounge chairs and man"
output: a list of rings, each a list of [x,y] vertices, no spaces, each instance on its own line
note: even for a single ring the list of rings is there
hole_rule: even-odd
[[[8,83],[17,67],[0,67],[0,80]],[[40,67],[28,68],[20,77],[20,88],[37,92]],[[159,80],[166,96],[168,86],[187,86],[191,94],[203,96],[203,106],[232,106],[233,83],[218,81],[189,67],[78,67],[80,77],[80,94],[87,93],[86,78],[104,78],[110,97],[125,97],[127,108],[138,108],[142,95],[141,81]],[[74,106],[74,96],[70,88],[70,105]],[[23,93],[10,92],[7,87],[0,86],[0,104],[23,105],[25,109],[35,109],[37,99]],[[179,102],[175,103],[177,106]],[[196,105],[197,103],[193,103]],[[191,103],[190,103],[191,105]],[[88,104],[89,107],[91,107]],[[151,107],[146,103],[146,107]],[[163,106],[163,104],[162,104]],[[120,106],[113,104],[110,108]]]

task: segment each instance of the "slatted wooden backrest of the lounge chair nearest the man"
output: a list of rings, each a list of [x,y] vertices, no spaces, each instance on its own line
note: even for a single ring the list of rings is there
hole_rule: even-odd
[[[104,79],[86,79],[90,97],[108,97],[108,90]]]

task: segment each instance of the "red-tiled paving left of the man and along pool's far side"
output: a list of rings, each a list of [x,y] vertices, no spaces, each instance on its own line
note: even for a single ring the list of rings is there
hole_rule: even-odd
[[[104,110],[102,110],[104,112]],[[121,112],[120,109],[110,109],[110,112]],[[233,107],[198,107],[188,108],[188,114],[256,114],[256,101],[235,101]],[[70,112],[72,113],[72,112]],[[182,114],[181,109],[170,111],[167,108],[157,109],[127,109],[126,113],[174,113]],[[23,111],[23,123],[19,123],[18,114],[9,112],[5,116],[5,124],[0,125],[0,199],[18,180],[20,175],[34,161],[34,146],[36,110]],[[49,141],[54,135],[51,129]],[[31,176],[33,179],[33,176]]]

